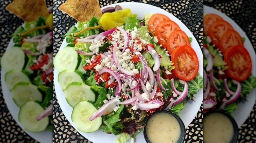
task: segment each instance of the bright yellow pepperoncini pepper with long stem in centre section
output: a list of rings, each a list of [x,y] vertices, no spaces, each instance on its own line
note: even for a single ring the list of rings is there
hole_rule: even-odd
[[[102,14],[102,16],[99,18],[98,26],[87,27],[80,32],[74,33],[74,36],[77,36],[89,29],[102,28],[103,30],[110,30],[117,26],[123,25],[125,23],[125,18],[131,17],[131,16],[132,16],[132,13],[131,13],[131,9],[129,8],[124,8],[111,13],[106,12]]]

